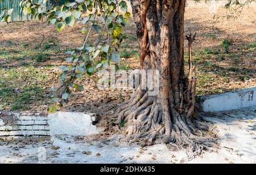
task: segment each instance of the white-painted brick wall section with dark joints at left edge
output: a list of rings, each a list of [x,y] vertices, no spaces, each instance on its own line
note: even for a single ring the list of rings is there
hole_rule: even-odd
[[[49,136],[47,116],[40,113],[7,113],[0,115],[0,139]]]

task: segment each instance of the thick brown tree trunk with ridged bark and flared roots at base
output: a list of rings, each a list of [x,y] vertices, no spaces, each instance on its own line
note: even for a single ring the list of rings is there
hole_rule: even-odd
[[[159,93],[139,87],[121,108],[130,142],[188,145],[200,135],[193,119],[196,81],[184,75],[185,0],[131,0],[137,25],[141,68],[159,70]],[[191,38],[191,36],[190,36]],[[192,42],[191,42],[192,43]],[[191,58],[192,59],[192,58]],[[189,65],[193,71],[192,64]]]

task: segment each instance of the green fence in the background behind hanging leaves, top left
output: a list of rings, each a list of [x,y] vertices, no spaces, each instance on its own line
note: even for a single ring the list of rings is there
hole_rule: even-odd
[[[35,0],[34,2],[39,2],[40,0]],[[59,2],[60,4],[64,4],[64,2],[67,0],[57,0],[57,2]],[[69,0],[69,2],[72,2],[74,0]],[[13,14],[11,14],[11,22],[24,22],[24,21],[28,21],[31,20],[30,15],[24,15],[22,12],[20,12],[20,6],[19,6],[19,2],[20,0],[2,0],[2,2],[0,2],[0,15],[5,12],[5,15],[7,15],[7,11],[10,8],[13,8]],[[56,2],[53,0],[49,0],[49,2]],[[2,10],[3,8],[5,8],[5,10]],[[2,18],[5,18],[5,15],[2,16]],[[2,20],[2,18],[0,18],[0,22]]]

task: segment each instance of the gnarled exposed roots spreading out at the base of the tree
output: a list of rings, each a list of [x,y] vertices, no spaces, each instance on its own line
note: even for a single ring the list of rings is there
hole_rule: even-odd
[[[158,98],[137,89],[129,102],[119,108],[117,123],[125,122],[125,141],[140,143],[142,146],[166,143],[173,148],[186,148],[189,159],[200,155],[203,148],[214,146],[214,136],[208,134],[209,123],[200,116],[186,117],[185,113],[171,110],[170,124],[163,115]],[[167,126],[171,127],[170,134],[166,132]]]

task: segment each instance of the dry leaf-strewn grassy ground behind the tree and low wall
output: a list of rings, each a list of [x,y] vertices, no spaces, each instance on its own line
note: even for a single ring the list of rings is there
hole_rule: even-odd
[[[225,15],[225,10],[218,9]],[[220,93],[256,85],[256,8],[243,9],[235,20],[213,19],[207,5],[189,4],[185,33],[197,32],[193,58],[198,76],[197,95]],[[133,19],[124,28],[119,53],[121,69],[139,68],[138,43]],[[59,65],[65,50],[80,46],[84,34],[77,24],[57,32],[39,22],[0,24],[0,110],[35,110],[47,113],[53,103],[51,88],[59,85]],[[90,36],[95,39],[96,36]],[[41,44],[42,42],[42,44]],[[160,53],[159,53],[160,54]],[[187,42],[185,61],[187,68]],[[97,77],[82,79],[84,91],[75,92],[62,110],[100,112],[129,99],[129,89],[100,90]]]

